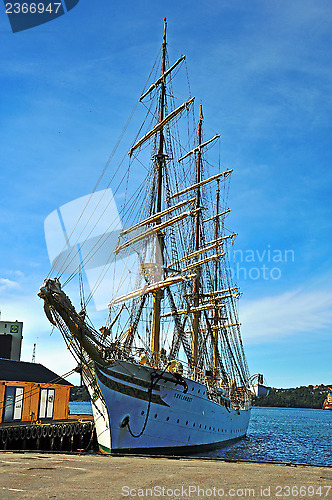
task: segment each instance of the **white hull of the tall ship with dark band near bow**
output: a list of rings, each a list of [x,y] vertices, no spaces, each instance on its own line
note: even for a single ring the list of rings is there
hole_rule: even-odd
[[[85,377],[93,403],[101,453],[186,454],[213,449],[244,437],[250,419],[245,409],[208,399],[206,386],[183,378],[159,379],[150,391],[153,369],[128,361],[108,368],[95,364],[95,381]],[[226,401],[226,400],[225,400]],[[143,432],[142,432],[143,431]]]

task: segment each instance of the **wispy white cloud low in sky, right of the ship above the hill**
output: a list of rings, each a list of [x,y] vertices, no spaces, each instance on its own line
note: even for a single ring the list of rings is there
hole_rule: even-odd
[[[317,332],[332,326],[332,292],[298,289],[245,302],[240,317],[247,343]]]

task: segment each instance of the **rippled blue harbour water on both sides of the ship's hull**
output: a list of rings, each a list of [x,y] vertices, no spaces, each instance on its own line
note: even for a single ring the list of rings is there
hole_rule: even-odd
[[[91,403],[69,403],[70,413],[91,414]],[[332,467],[332,411],[254,407],[247,437],[200,457]]]

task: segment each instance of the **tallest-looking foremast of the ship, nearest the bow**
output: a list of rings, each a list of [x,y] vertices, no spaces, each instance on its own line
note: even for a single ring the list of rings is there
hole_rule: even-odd
[[[166,18],[164,18],[164,37],[163,37],[163,45],[162,45],[162,75],[164,75],[166,70]],[[161,81],[160,87],[160,114],[159,114],[159,123],[162,123],[164,119],[164,109],[165,109],[165,96],[166,96],[166,86],[165,86],[165,78]],[[157,166],[157,196],[156,196],[156,207],[155,213],[161,212],[161,201],[162,201],[162,181],[163,181],[163,170],[165,164],[165,154],[164,154],[164,133],[163,127],[161,127],[159,131],[159,144],[158,144],[158,153],[155,157],[155,162]],[[157,219],[156,224],[160,224],[161,220]],[[163,265],[163,235],[159,231],[157,233],[157,242],[159,244],[160,252],[158,249],[158,245],[156,246],[156,265],[158,268],[162,268]],[[152,342],[151,342],[151,351],[152,351],[152,360],[155,364],[158,364],[158,353],[160,350],[160,309],[161,309],[161,300],[163,298],[163,291],[161,289],[157,289],[153,292],[153,317],[152,317]]]

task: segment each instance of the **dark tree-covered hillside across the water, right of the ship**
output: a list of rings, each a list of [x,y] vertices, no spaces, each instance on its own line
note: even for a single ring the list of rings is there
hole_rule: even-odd
[[[331,387],[331,386],[330,386]],[[254,398],[254,406],[279,406],[286,408],[322,408],[329,391],[328,386],[301,386],[295,389],[270,389],[266,398]]]

